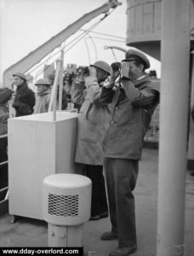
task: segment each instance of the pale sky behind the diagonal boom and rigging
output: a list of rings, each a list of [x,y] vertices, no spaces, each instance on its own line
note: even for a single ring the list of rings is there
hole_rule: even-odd
[[[112,52],[111,49],[104,49],[105,45],[128,49],[125,43],[127,0],[119,2],[123,4],[114,9],[87,37],[73,46],[74,43],[71,42],[81,34],[79,31],[62,44],[65,47],[65,67],[67,63],[88,66],[99,60],[110,64],[123,60],[122,51],[114,49]],[[104,3],[106,0],[0,0],[0,81],[3,80],[3,72],[8,67]],[[82,28],[87,30],[103,16],[99,15]],[[59,49],[55,50],[57,51]],[[48,59],[55,52],[48,55],[45,59],[47,62],[43,63],[55,62],[60,54]],[[151,69],[156,69],[160,76],[160,62],[153,58],[150,58],[150,61]],[[37,69],[34,73],[36,75],[40,70]]]

